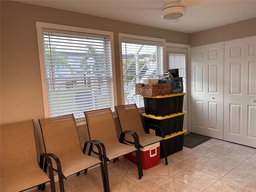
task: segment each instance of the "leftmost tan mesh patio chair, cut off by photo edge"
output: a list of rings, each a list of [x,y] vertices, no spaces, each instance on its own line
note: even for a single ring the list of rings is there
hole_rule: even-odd
[[[40,165],[38,163],[33,121],[4,124],[0,131],[0,191],[20,192],[35,186],[44,190],[45,183],[50,182],[51,191],[55,192],[50,157],[41,154]],[[50,177],[46,174],[47,167]]]

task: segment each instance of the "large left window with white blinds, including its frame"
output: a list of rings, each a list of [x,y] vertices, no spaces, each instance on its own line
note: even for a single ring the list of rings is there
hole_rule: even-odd
[[[114,111],[112,32],[41,22],[37,31],[46,118]]]

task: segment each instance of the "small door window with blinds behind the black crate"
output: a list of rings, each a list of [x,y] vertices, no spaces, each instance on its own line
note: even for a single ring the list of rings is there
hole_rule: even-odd
[[[186,57],[185,54],[169,54],[170,69],[179,69],[179,77],[182,77],[183,92],[186,92]]]

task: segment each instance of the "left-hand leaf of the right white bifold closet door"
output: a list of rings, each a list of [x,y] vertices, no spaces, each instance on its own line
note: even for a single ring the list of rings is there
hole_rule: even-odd
[[[225,42],[224,140],[244,142],[244,44]]]

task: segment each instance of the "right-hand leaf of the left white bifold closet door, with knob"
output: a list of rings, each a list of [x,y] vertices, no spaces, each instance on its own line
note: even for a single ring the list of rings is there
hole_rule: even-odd
[[[209,44],[206,50],[208,129],[211,137],[223,139],[224,42]]]

